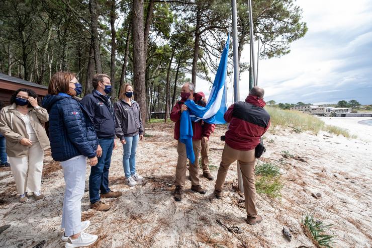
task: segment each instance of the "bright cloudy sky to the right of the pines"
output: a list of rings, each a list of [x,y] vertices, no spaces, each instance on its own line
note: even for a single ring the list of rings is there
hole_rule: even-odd
[[[322,104],[355,99],[372,104],[372,1],[296,3],[303,9],[309,30],[292,43],[290,54],[259,61],[258,85],[265,89],[264,100]],[[244,48],[244,61],[249,62],[249,47]],[[231,103],[230,78],[227,81]],[[208,86],[198,78],[200,90],[207,93]],[[244,72],[240,100],[247,92],[248,72]]]

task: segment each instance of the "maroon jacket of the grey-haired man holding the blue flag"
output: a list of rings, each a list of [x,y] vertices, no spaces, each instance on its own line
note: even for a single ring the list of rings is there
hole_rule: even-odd
[[[174,139],[179,139],[179,125],[180,125],[180,117],[181,117],[181,106],[183,102],[179,101],[177,102],[172,111],[170,112],[170,119],[175,122],[174,124]],[[197,103],[198,104],[198,103]],[[199,104],[201,105],[201,104]],[[201,105],[203,106],[203,105]],[[193,125],[193,140],[200,140],[203,137],[209,138],[209,136],[213,133],[215,130],[216,125],[215,124],[209,124],[204,121],[198,121],[194,122],[192,121]]]

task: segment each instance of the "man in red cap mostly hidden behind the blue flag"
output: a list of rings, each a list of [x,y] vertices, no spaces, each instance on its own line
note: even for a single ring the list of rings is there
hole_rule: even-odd
[[[198,92],[195,94],[195,102],[198,105],[201,106],[206,106],[207,105],[207,100],[206,100],[206,95],[204,92]],[[204,122],[203,122],[204,125]],[[214,130],[215,130],[216,125],[212,124],[211,128],[208,129],[209,135],[211,135]],[[209,172],[209,159],[208,159],[208,152],[209,152],[209,145],[208,145],[208,137],[203,137],[202,138],[202,150],[201,150],[201,155],[202,155],[202,168],[203,168],[203,177],[207,178],[209,181],[212,181],[214,178],[212,177],[211,173]]]

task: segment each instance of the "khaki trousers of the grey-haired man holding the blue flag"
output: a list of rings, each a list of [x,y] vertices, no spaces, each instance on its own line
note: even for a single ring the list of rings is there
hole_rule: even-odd
[[[199,185],[199,153],[202,149],[201,140],[193,140],[193,149],[195,154],[195,163],[190,162],[189,171],[191,185]],[[186,146],[178,140],[177,143],[178,160],[175,168],[175,185],[184,187],[186,178],[186,163],[188,158],[186,156]]]

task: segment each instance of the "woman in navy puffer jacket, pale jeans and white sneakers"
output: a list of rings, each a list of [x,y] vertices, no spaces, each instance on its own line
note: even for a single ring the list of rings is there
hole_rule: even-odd
[[[81,93],[81,85],[71,72],[57,72],[49,82],[43,107],[49,112],[49,139],[52,157],[61,162],[65,180],[61,239],[65,247],[88,246],[98,236],[83,231],[89,221],[81,222],[81,198],[85,188],[86,157],[95,166],[98,140],[94,125],[86,111],[73,97]]]

